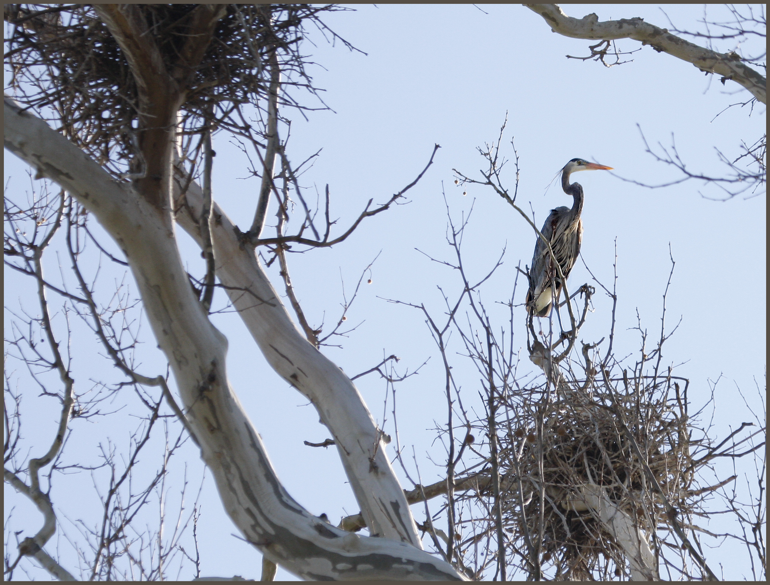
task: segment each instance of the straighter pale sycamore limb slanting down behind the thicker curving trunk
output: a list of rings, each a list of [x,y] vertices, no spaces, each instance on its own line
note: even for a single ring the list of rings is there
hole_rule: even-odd
[[[186,176],[177,177],[175,197],[187,183]],[[203,191],[195,182],[189,183],[186,203],[192,217],[198,217]],[[182,207],[177,223],[202,244],[190,214],[175,207]],[[356,386],[296,328],[256,255],[241,249],[235,225],[216,203],[212,214],[216,275],[269,364],[313,402],[333,434],[370,533],[420,546],[417,526],[404,513],[409,504],[385,456],[382,433]]]

